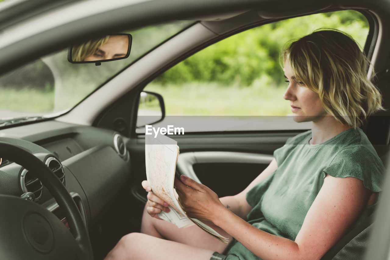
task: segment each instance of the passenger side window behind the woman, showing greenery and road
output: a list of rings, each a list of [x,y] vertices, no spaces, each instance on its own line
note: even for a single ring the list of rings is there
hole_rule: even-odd
[[[319,28],[347,32],[362,49],[369,32],[363,14],[345,10],[277,21],[223,39],[145,87],[164,98],[166,118],[160,124],[185,125],[186,132],[309,129],[310,123],[289,117],[289,101],[282,98],[287,83],[280,50]],[[145,105],[138,112],[144,114]]]

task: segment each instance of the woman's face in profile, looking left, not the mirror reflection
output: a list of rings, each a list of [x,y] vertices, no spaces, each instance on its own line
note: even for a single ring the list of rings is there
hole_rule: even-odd
[[[296,122],[318,122],[327,114],[321,104],[319,95],[306,87],[303,82],[296,82],[288,62],[284,63],[284,76],[288,87],[283,98],[290,100],[291,112]]]

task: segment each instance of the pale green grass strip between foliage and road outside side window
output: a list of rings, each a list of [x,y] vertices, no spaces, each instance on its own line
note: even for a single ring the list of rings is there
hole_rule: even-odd
[[[216,83],[190,83],[161,86],[149,84],[145,90],[159,93],[166,114],[196,116],[285,116],[289,102],[282,98],[284,86],[254,82],[249,87]],[[154,107],[152,109],[158,109]]]

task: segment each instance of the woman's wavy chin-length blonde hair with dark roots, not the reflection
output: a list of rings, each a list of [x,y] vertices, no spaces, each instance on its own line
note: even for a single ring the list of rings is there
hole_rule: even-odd
[[[316,30],[283,52],[297,81],[319,94],[325,112],[342,124],[358,127],[383,110],[381,94],[367,78],[368,59],[348,34]]]

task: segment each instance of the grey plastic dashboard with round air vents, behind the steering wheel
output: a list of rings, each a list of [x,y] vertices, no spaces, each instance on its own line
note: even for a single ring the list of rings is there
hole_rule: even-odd
[[[131,174],[128,139],[112,130],[43,121],[2,129],[0,141],[21,146],[42,160],[70,192],[87,225]],[[2,158],[0,193],[21,196],[26,192],[33,192],[34,203],[66,223],[62,210],[34,173]]]

